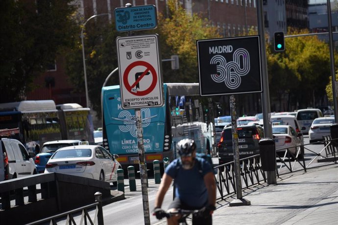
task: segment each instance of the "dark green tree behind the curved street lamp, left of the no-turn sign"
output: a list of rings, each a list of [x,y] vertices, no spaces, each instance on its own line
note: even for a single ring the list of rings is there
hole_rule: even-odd
[[[101,89],[106,77],[116,68],[117,51],[115,40],[119,33],[115,29],[115,23],[110,24],[107,16],[99,16],[91,19],[84,27],[84,50],[86,60],[86,73],[88,95],[91,108],[101,115]],[[81,38],[77,38],[77,44],[66,55],[67,74],[72,85],[77,91],[85,90],[84,70],[82,60]],[[111,76],[109,85],[118,85],[119,76]]]

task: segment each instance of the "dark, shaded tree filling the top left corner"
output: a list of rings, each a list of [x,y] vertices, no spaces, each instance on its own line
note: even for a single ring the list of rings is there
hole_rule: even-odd
[[[77,34],[72,0],[0,1],[0,102],[22,100]]]

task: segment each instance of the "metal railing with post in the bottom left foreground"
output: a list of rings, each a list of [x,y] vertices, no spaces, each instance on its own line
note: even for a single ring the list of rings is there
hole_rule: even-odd
[[[58,215],[51,216],[42,220],[34,221],[33,223],[27,225],[39,225],[46,222],[49,222],[49,225],[57,225],[57,219],[62,219],[66,216],[66,225],[76,225],[73,215],[78,213],[81,213],[81,219],[79,223],[80,225],[82,225],[83,223],[87,225],[87,222],[89,222],[91,225],[103,225],[102,194],[100,192],[95,193],[95,200],[96,203],[73,209],[68,212],[60,213]],[[93,207],[96,207],[94,222],[88,214],[88,209],[91,209]]]

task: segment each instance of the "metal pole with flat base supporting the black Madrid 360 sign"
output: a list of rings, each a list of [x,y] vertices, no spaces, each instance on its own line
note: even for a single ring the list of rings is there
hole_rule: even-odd
[[[234,152],[235,178],[236,178],[236,195],[237,200],[229,203],[229,206],[250,205],[250,201],[242,198],[241,183],[241,166],[240,166],[240,150],[238,148],[237,118],[236,118],[236,99],[230,95],[230,112],[231,112],[231,130],[232,130],[232,146]]]

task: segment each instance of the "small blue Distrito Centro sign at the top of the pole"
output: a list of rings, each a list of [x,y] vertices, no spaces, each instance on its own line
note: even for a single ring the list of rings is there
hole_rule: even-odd
[[[139,5],[115,8],[116,30],[149,30],[157,27],[157,13],[155,5]]]

